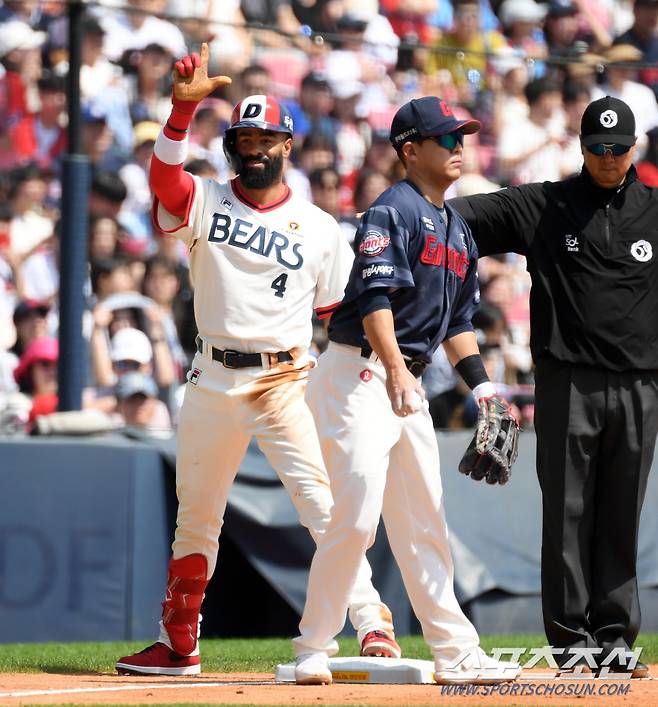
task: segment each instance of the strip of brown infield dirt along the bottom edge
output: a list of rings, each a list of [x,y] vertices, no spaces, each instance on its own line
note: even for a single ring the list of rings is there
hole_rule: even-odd
[[[658,665],[652,666],[658,675]],[[546,676],[545,681],[541,680]],[[533,678],[529,680],[528,678]],[[552,673],[532,671],[522,685],[557,685]],[[253,705],[596,705],[597,707],[654,707],[658,705],[658,679],[584,680],[595,694],[571,695],[448,695],[439,685],[354,685],[319,687],[277,685],[271,673],[203,673],[190,677],[119,676],[116,674],[3,673],[0,705],[111,705],[111,704],[253,704]],[[610,690],[617,694],[601,694]],[[616,687],[628,685],[626,694]],[[602,690],[599,688],[603,688]],[[31,693],[31,694],[30,694]]]

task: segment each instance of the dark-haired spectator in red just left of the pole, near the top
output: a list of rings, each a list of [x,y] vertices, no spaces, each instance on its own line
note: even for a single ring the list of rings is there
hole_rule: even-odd
[[[44,72],[37,80],[40,109],[16,126],[14,148],[21,163],[34,162],[44,170],[59,171],[59,158],[66,149],[66,82]]]

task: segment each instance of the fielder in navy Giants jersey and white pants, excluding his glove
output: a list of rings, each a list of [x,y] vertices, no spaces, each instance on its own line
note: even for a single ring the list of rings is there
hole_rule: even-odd
[[[460,174],[464,135],[478,129],[436,97],[402,106],[391,141],[407,178],[373,203],[357,230],[345,296],[306,396],[335,505],[293,641],[298,683],[331,682],[334,636],[381,513],[436,680],[498,682],[520,673],[482,652],[455,598],[439,452],[420,384],[443,343],[485,410],[495,398],[471,324],[477,249],[464,220],[444,205]]]

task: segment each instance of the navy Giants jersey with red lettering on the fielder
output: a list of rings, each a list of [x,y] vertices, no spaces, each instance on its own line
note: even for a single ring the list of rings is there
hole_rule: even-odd
[[[370,288],[388,288],[395,334],[406,356],[429,363],[445,339],[472,331],[479,302],[478,252],[464,219],[441,213],[403,180],[366,211],[354,240],[356,258],[329,339],[368,346],[356,300]]]

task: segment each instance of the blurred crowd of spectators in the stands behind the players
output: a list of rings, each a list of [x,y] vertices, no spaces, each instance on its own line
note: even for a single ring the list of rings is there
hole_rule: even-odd
[[[658,0],[97,0],[83,21],[81,140],[91,168],[86,409],[153,431],[176,424],[195,350],[187,252],[154,230],[148,168],[170,109],[173,61],[210,44],[233,84],[206,99],[186,168],[231,178],[234,103],[283,100],[295,123],[286,180],[353,239],[358,214],[403,168],[388,142],[405,101],[439,95],[482,123],[449,195],[580,170],[585,106],[637,118],[637,168],[658,185]],[[57,407],[67,3],[0,2],[0,429]],[[489,374],[532,424],[524,259],[484,258],[475,326]],[[323,344],[317,327],[315,346]],[[477,411],[437,352],[424,384],[437,427]]]

